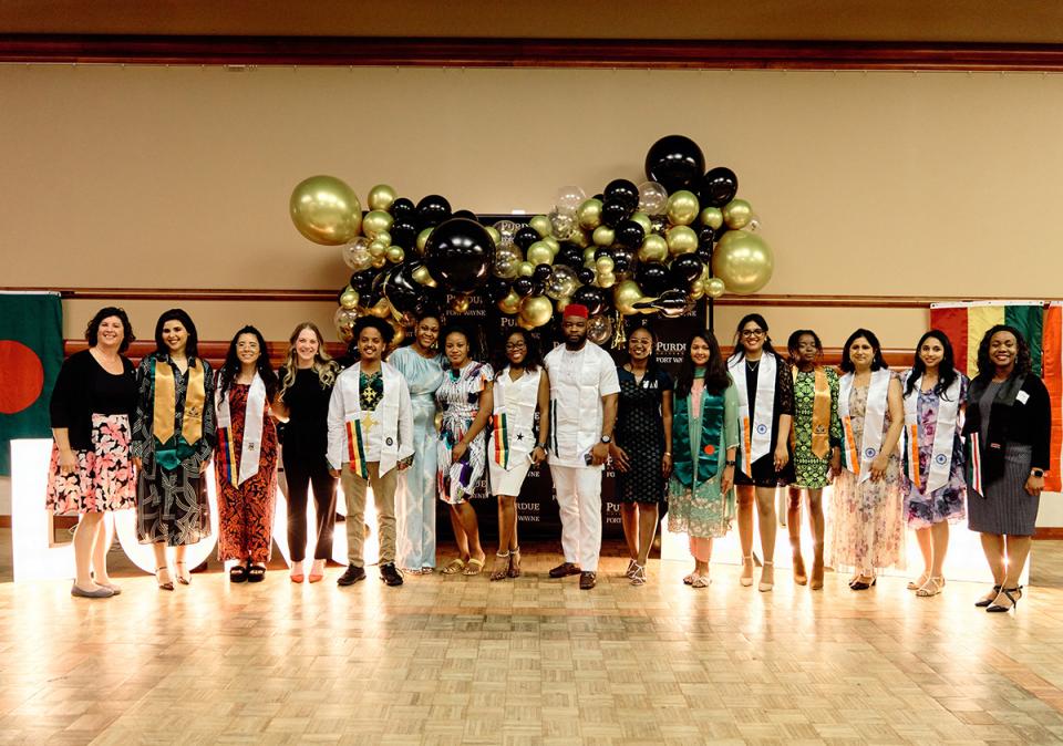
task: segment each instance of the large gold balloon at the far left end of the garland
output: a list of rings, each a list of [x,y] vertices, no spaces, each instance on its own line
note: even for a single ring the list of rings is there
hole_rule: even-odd
[[[358,195],[334,176],[311,176],[297,184],[288,200],[288,214],[296,230],[324,246],[347,244],[362,225]]]

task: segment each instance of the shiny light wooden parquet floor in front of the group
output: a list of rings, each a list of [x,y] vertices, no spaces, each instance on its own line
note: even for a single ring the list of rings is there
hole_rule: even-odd
[[[1049,551],[1039,542],[1035,552]],[[1063,549],[1052,548],[1056,557]],[[709,589],[675,562],[631,587],[525,577],[295,586],[194,576],[72,599],[0,583],[0,742],[132,744],[894,744],[1063,740],[1063,589],[1016,614],[949,583],[812,592],[778,572]]]

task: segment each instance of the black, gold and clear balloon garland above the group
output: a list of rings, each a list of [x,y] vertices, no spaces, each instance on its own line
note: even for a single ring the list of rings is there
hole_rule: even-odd
[[[590,310],[591,339],[605,343],[627,317],[680,318],[702,298],[767,283],[772,250],[733,170],[706,172],[696,143],[668,135],[647,153],[646,177],[613,179],[592,197],[564,186],[549,215],[484,225],[445,197],[414,204],[386,184],[370,189],[363,215],[344,182],[311,176],[290,214],[306,238],[341,247],[352,271],[334,317],[343,340],[363,314],[388,320],[398,344],[426,311],[492,303],[532,330],[572,302]]]

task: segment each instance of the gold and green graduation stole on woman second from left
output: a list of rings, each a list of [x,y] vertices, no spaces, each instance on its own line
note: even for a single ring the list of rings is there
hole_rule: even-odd
[[[168,360],[152,358],[152,434],[155,437],[155,460],[171,472],[193,454],[192,446],[203,437],[203,406],[207,400],[205,379],[203,362],[193,358],[188,361],[188,387],[185,391],[180,433],[176,434],[177,384],[174,381],[174,369]]]

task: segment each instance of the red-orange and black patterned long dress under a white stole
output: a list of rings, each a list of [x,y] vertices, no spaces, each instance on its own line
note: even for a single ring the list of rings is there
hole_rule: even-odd
[[[229,415],[233,423],[233,474],[240,473],[244,447],[244,423],[247,396],[251,387],[229,385]],[[218,447],[223,438],[218,437]],[[277,501],[277,426],[269,416],[269,405],[262,418],[262,444],[258,455],[258,472],[244,484],[234,486],[224,474],[223,459],[214,459],[218,485],[218,560],[249,559],[268,562],[274,543],[274,507]]]

